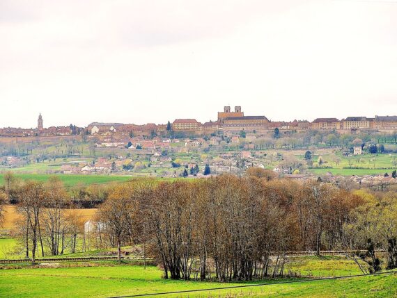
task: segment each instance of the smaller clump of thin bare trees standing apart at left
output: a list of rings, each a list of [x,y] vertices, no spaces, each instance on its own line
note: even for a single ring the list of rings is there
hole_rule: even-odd
[[[7,197],[7,192],[0,197]],[[19,217],[13,232],[24,244],[26,258],[34,263],[39,254],[56,256],[67,247],[74,253],[82,224],[79,215],[67,212],[69,201],[62,182],[56,177],[46,183],[26,181],[15,192]]]

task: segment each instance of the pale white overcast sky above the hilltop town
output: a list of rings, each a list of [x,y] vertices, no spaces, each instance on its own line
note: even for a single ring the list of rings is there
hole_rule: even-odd
[[[397,114],[397,0],[0,0],[0,127]]]

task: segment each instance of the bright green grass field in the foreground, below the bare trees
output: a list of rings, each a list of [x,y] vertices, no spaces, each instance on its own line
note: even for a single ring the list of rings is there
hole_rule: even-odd
[[[279,280],[280,281],[280,280]],[[284,281],[284,280],[281,280]],[[262,281],[274,283],[277,281]],[[0,297],[114,297],[180,290],[210,289],[252,283],[215,283],[162,279],[157,267],[68,267],[0,270]],[[397,276],[266,285],[234,290],[156,297],[396,297]]]

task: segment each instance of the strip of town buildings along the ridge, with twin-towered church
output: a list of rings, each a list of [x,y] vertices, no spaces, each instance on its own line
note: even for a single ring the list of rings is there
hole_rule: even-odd
[[[217,113],[217,119],[215,121],[209,121],[203,124],[196,119],[175,119],[172,123],[169,122],[168,124],[148,123],[137,125],[93,122],[86,127],[77,127],[70,124],[70,126],[51,126],[44,128],[42,115],[40,114],[36,129],[4,127],[0,129],[0,136],[128,135],[130,133],[144,135],[145,133],[162,133],[165,131],[189,132],[204,135],[217,132],[236,134],[240,133],[240,131],[265,133],[276,128],[285,132],[302,130],[336,130],[341,133],[349,133],[350,131],[357,130],[391,132],[397,129],[397,116],[375,116],[373,118],[354,116],[341,120],[337,118],[317,118],[312,122],[297,119],[292,122],[273,122],[264,115],[244,115],[241,106],[235,106],[234,110],[230,106],[225,106],[223,112]]]

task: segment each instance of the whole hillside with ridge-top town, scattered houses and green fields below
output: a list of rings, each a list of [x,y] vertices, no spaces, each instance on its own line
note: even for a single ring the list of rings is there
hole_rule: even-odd
[[[215,121],[93,122],[0,130],[0,170],[42,174],[200,177],[270,169],[293,179],[394,183],[397,116],[272,122],[225,106]],[[338,178],[339,177],[339,178]],[[342,179],[344,180],[344,179]]]

